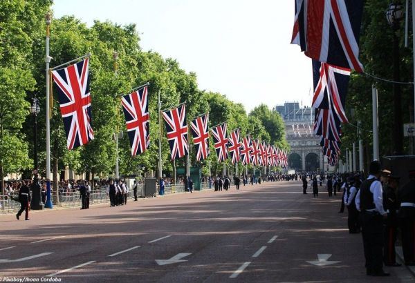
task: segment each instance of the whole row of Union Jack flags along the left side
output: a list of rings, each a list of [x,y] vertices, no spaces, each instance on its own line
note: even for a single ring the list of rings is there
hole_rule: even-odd
[[[91,94],[89,92],[89,58],[76,64],[52,71],[57,86],[59,106],[64,121],[68,150],[73,150],[91,141]],[[131,144],[131,155],[139,155],[149,148],[149,101],[148,84],[121,98],[125,125]],[[172,160],[189,153],[185,104],[162,112],[167,132],[167,140]],[[196,159],[201,161],[210,155],[209,115],[199,115],[190,123]],[[284,150],[259,142],[250,135],[240,142],[239,128],[227,137],[227,124],[222,123],[211,129],[214,148],[219,162],[225,162],[230,155],[232,164],[239,161],[243,165],[288,166]]]

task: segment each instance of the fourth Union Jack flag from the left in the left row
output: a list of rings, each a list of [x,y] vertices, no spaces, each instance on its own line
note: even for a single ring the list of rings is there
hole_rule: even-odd
[[[209,151],[209,114],[201,115],[190,122],[193,143],[196,146],[196,159],[201,161],[206,159]]]

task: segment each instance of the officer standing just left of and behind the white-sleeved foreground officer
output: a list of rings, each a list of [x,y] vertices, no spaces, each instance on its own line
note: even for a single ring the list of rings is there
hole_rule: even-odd
[[[349,233],[358,234],[360,233],[360,224],[359,224],[359,211],[356,208],[356,195],[358,194],[360,188],[360,176],[356,175],[353,177],[347,178],[349,186],[346,189],[346,206],[347,211],[349,211],[349,217],[347,218],[347,226],[349,226]]]

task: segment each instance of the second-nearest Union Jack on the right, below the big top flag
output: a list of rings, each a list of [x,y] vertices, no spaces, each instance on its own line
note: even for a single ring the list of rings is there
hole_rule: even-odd
[[[342,123],[347,123],[344,112],[350,69],[332,66],[313,60],[313,107],[330,109]]]

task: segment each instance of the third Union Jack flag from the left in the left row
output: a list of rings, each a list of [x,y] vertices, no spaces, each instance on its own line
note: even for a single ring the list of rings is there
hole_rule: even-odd
[[[185,104],[163,112],[172,160],[189,153]]]

